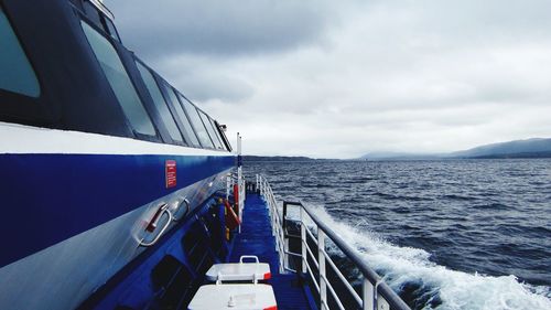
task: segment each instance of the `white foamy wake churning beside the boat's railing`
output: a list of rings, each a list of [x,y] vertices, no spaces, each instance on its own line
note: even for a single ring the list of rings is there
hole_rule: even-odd
[[[423,249],[400,247],[376,233],[359,231],[335,221],[323,209],[314,209],[322,221],[355,247],[367,264],[383,270],[387,284],[399,289],[407,282],[422,284],[431,296],[439,292],[442,304],[436,309],[551,309],[551,290],[544,286],[521,284],[515,276],[491,277],[451,270],[429,260]],[[431,293],[432,292],[432,293]],[[425,309],[432,309],[426,306]]]

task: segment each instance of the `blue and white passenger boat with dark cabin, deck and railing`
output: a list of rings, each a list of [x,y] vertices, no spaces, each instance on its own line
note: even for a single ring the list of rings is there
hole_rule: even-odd
[[[235,138],[102,2],[0,0],[0,309],[409,309]]]

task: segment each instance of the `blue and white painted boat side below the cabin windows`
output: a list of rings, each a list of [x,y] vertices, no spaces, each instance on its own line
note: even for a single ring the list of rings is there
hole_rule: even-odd
[[[166,160],[176,161],[171,189]],[[228,152],[0,124],[0,308],[77,307],[143,252],[160,205],[179,213],[184,199],[201,204],[234,161]]]

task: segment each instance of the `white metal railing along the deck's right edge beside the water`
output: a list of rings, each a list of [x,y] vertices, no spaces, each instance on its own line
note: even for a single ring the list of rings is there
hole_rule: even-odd
[[[257,175],[257,189],[266,200],[270,211],[272,232],[276,236],[276,247],[280,256],[280,271],[289,270],[300,272],[307,276],[312,280],[312,285],[320,295],[320,307],[322,310],[329,309],[329,304],[336,306],[338,309],[345,310],[342,297],[335,287],[341,291],[343,288],[353,297],[355,308],[364,310],[383,310],[410,309],[406,302],[382,281],[358,253],[352,248],[341,236],[338,236],[331,227],[312,212],[310,207],[301,202],[283,202],[282,215],[278,210],[278,203],[273,195],[269,182],[262,175]],[[289,220],[287,217],[289,206],[296,206],[300,210],[299,220]],[[285,226],[288,221],[300,225],[300,236],[287,234]],[[301,253],[289,250],[289,239],[300,239]],[[360,272],[361,289],[360,293],[354,289],[349,280],[343,275],[333,258],[325,250],[326,239],[331,239],[333,244],[344,254],[344,256],[354,264]],[[311,246],[314,245],[314,246]],[[296,269],[290,267],[290,256],[298,257],[300,266]],[[315,269],[311,266],[314,265]],[[327,266],[332,269],[332,276],[327,277]],[[317,270],[317,272],[315,271]],[[331,280],[329,280],[331,279]],[[327,291],[333,297],[333,302],[327,299]],[[347,302],[350,302],[349,300]]]

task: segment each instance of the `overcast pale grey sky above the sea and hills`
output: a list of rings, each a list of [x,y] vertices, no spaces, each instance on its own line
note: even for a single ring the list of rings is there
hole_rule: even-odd
[[[105,0],[125,45],[246,154],[551,137],[548,0]]]

